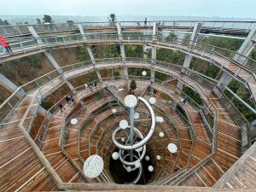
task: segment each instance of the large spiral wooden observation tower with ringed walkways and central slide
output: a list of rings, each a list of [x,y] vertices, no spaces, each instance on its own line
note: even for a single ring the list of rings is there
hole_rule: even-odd
[[[253,191],[255,22],[0,26],[0,191]]]

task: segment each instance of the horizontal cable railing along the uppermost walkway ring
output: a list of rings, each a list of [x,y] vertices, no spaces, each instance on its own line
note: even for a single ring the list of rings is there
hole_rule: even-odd
[[[247,33],[253,28],[255,20],[137,20],[118,21],[122,27],[153,27],[154,23],[162,28],[193,28],[196,22],[202,23],[202,29],[210,29],[212,32],[244,32]],[[78,24],[84,29],[116,28],[117,22],[79,22],[79,23],[45,23],[27,25],[0,26],[0,33],[3,36],[15,36],[29,33],[27,27],[32,26],[36,32],[58,32],[79,30]]]

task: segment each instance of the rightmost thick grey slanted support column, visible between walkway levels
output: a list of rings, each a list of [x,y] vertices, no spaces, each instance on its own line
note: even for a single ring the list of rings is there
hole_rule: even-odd
[[[241,47],[237,50],[236,55],[233,57],[233,61],[240,63],[241,65],[246,64],[246,60],[243,56],[248,56],[251,54],[256,42],[256,26],[253,27],[252,31],[247,35],[247,38],[241,44]],[[224,86],[230,84],[232,76],[229,73],[224,73],[223,76],[218,80],[218,88],[222,89]],[[220,93],[217,88],[213,88],[213,91],[218,96]]]

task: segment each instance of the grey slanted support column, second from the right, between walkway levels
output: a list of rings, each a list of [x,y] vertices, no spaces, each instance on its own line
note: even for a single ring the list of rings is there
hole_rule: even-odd
[[[191,38],[190,38],[190,42],[189,45],[195,45],[197,38],[198,38],[198,34],[201,32],[201,26],[202,23],[195,23]],[[185,69],[184,68],[189,68],[190,62],[192,60],[192,55],[187,54],[185,56],[185,59],[183,61],[183,68],[182,68],[182,73],[185,73]],[[177,82],[177,89],[176,92],[177,94],[180,94],[181,90],[183,89],[183,83],[178,81]]]

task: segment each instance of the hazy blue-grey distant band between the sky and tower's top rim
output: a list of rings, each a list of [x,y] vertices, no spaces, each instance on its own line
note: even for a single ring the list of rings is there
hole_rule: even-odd
[[[67,22],[73,20],[74,22],[93,22],[93,21],[108,21],[106,16],[73,16],[73,15],[51,15],[56,23]],[[9,23],[15,25],[18,22],[35,24],[38,19],[42,19],[43,15],[0,15],[0,19],[8,20]],[[252,18],[230,18],[230,17],[202,17],[202,16],[150,16],[150,15],[117,15],[119,21],[132,21],[132,20],[255,20]]]

